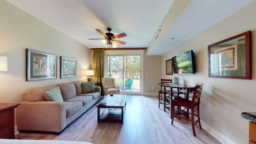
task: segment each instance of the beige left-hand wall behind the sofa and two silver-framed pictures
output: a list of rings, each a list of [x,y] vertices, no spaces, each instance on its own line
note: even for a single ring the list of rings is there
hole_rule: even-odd
[[[26,48],[58,55],[57,79],[26,82]],[[0,56],[8,56],[8,72],[0,72],[0,103],[22,101],[28,88],[86,80],[90,49],[0,0]],[[77,77],[60,78],[60,56],[77,60]]]

